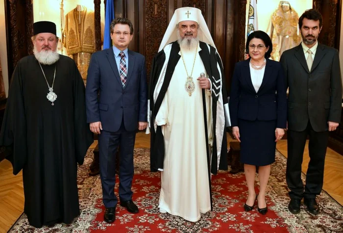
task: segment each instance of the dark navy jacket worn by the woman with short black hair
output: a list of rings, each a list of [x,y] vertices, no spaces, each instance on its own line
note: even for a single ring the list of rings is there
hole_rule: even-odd
[[[277,120],[277,128],[286,128],[287,98],[281,64],[267,59],[261,87],[256,93],[250,76],[250,59],[236,63],[229,99],[232,126],[238,118],[254,121]]]

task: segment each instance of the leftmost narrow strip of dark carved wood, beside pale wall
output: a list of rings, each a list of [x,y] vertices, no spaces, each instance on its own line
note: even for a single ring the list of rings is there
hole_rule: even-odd
[[[17,2],[18,0],[9,0],[10,11],[10,31],[11,31],[11,47],[12,47],[12,69],[16,67],[19,61],[19,30],[17,25]]]

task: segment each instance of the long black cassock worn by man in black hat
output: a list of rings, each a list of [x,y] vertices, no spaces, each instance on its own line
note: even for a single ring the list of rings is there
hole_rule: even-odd
[[[71,223],[79,215],[77,163],[82,164],[93,134],[86,123],[85,87],[74,61],[60,55],[52,65],[42,65],[49,88],[33,55],[18,62],[13,73],[0,145],[13,174],[23,169],[25,207],[34,227]]]

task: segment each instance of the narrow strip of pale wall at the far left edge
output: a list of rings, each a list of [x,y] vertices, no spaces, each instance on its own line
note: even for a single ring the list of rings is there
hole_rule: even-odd
[[[2,68],[3,84],[5,86],[6,97],[8,96],[8,69],[7,69],[7,43],[5,25],[5,1],[0,1],[0,58]]]

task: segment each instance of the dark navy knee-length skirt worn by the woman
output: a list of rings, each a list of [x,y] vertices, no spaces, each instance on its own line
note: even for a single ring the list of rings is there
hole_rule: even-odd
[[[273,121],[238,119],[241,139],[241,162],[266,166],[275,162],[275,129]]]

